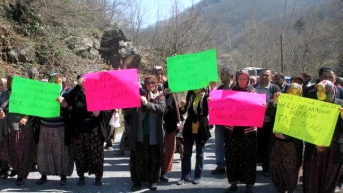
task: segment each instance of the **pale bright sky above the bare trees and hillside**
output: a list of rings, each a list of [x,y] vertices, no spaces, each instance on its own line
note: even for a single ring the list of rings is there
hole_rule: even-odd
[[[200,0],[178,0],[181,4],[181,10],[185,10],[192,6],[192,3],[196,4]],[[159,9],[159,18],[168,19],[169,9],[171,2],[174,0],[145,0],[147,7],[147,16],[145,19],[144,27],[152,25],[156,22],[157,9]]]

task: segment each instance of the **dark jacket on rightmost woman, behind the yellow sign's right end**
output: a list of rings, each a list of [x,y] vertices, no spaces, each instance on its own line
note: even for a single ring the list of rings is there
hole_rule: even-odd
[[[343,106],[343,100],[335,99],[335,104],[339,104]],[[341,114],[338,117],[337,124],[335,130],[333,132],[332,140],[330,147],[334,152],[334,162],[335,163],[343,163],[343,120]],[[304,160],[310,160],[312,158],[313,152],[317,151],[316,146],[314,144],[305,143],[305,152],[304,152]]]

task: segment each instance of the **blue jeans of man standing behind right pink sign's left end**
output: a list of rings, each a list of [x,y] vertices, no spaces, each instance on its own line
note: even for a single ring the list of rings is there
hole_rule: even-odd
[[[220,169],[225,169],[225,127],[218,125],[214,129],[215,163]]]

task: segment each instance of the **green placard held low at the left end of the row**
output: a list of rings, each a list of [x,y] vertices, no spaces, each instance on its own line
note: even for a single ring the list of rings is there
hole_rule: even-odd
[[[60,90],[59,84],[14,77],[9,112],[39,117],[58,117],[60,104],[56,98],[60,96]]]

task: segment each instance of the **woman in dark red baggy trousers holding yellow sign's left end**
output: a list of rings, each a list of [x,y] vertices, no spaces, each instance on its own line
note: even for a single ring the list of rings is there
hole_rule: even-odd
[[[303,87],[298,83],[289,85],[287,94],[302,96]],[[273,101],[269,105],[271,117],[275,118],[277,99],[280,92],[274,94]],[[284,135],[274,133],[275,142],[272,145],[270,157],[270,177],[279,193],[293,193],[298,187],[299,170],[303,162],[303,141]]]

